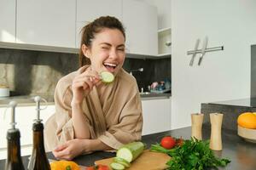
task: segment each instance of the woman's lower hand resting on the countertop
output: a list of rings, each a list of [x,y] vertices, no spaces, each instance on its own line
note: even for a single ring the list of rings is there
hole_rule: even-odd
[[[85,151],[90,151],[89,139],[72,139],[57,146],[52,153],[57,159],[73,160],[74,157],[83,154]]]

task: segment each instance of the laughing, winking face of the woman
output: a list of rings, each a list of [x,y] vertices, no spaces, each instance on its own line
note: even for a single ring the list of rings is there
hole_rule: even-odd
[[[125,37],[118,29],[104,28],[95,35],[84,55],[90,58],[92,70],[116,75],[125,61]]]

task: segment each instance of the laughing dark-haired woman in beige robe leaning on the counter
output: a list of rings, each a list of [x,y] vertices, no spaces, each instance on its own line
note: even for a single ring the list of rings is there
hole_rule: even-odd
[[[84,26],[79,59],[79,71],[57,83],[55,114],[45,125],[46,150],[59,159],[141,139],[142,104],[136,79],[122,69],[125,31],[119,20],[100,17]],[[103,83],[102,71],[112,72],[114,81]]]

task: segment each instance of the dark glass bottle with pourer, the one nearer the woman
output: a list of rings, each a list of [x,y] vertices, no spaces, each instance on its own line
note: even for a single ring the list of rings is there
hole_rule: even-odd
[[[33,148],[28,170],[50,170],[49,161],[44,150],[44,124],[40,119],[40,100],[39,96],[35,97],[38,116],[32,125]]]

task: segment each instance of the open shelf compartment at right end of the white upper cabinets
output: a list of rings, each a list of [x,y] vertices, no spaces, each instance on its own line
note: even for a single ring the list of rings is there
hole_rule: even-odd
[[[158,31],[158,56],[171,54],[172,38],[171,27],[160,29]]]

